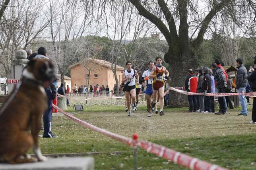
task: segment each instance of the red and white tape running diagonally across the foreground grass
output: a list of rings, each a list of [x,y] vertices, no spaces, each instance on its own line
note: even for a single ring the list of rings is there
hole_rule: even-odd
[[[89,128],[95,132],[99,132],[99,133],[101,133],[105,136],[108,136],[110,138],[117,139],[118,141],[121,141],[122,143],[129,145],[130,147],[134,147],[136,145],[140,146],[142,149],[144,149],[147,152],[153,153],[159,157],[163,157],[164,159],[171,160],[171,161],[173,161],[177,164],[180,164],[182,166],[186,166],[187,168],[190,168],[191,170],[228,170],[226,168],[222,168],[221,166],[190,157],[188,155],[174,151],[172,149],[166,148],[161,145],[157,145],[155,143],[151,143],[151,142],[143,141],[143,140],[133,140],[131,138],[127,138],[125,136],[121,136],[121,135],[109,132],[105,129],[99,128],[97,126],[94,126],[92,124],[84,122],[83,120],[80,120],[80,119],[70,115],[69,113],[58,108],[56,105],[52,105],[52,106],[55,109],[57,109],[58,111],[60,111],[62,114],[66,115],[67,117],[71,118],[72,120],[80,123],[85,128]]]

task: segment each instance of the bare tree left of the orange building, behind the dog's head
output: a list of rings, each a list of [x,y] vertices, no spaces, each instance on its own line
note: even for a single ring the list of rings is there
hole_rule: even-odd
[[[81,4],[77,0],[48,0],[48,4],[51,55],[64,83],[68,67],[79,60],[76,54],[83,49],[81,37],[89,34],[87,31],[90,31],[93,19],[93,1]]]

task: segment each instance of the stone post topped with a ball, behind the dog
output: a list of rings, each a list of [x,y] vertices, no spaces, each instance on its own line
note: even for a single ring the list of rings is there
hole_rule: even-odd
[[[16,52],[16,60],[12,61],[10,70],[8,70],[7,78],[20,80],[22,70],[27,65],[28,61],[29,60],[27,59],[27,52],[25,52],[25,50],[18,50]],[[8,83],[8,94],[12,92],[12,90],[14,89],[14,85],[15,84]]]

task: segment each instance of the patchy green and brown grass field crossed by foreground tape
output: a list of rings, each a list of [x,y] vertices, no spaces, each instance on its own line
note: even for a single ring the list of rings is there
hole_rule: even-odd
[[[231,170],[256,169],[256,125],[249,116],[238,117],[240,108],[227,115],[185,113],[187,108],[165,108],[165,116],[147,117],[145,106],[127,117],[123,105],[85,106],[74,116],[100,128],[132,138],[151,141]],[[72,107],[68,108],[72,111]],[[52,132],[59,136],[40,139],[42,153],[101,152],[94,155],[95,170],[132,170],[133,149],[119,141],[85,129],[69,118],[52,117]],[[43,131],[41,131],[41,134]],[[121,154],[110,152],[122,151]],[[109,152],[109,153],[106,153]],[[138,167],[142,170],[186,170],[142,149],[138,150]]]

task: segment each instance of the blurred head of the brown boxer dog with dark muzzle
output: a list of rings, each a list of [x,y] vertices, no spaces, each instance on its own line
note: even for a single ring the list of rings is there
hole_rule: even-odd
[[[25,74],[31,74],[31,78],[41,83],[53,82],[56,79],[56,74],[54,72],[54,65],[48,59],[30,60],[25,69],[26,69],[25,72],[27,72]]]

